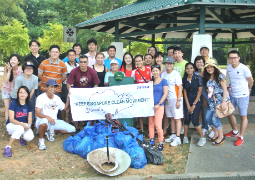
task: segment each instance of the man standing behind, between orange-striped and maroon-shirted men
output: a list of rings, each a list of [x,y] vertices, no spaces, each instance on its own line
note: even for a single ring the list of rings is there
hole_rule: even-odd
[[[67,61],[65,64],[66,64],[66,67],[67,67],[67,78],[70,74],[70,72],[76,68],[77,66],[79,66],[79,64],[77,63],[77,61],[75,60],[75,50],[73,49],[69,49],[67,51],[67,58],[69,59],[69,61]],[[66,99],[67,99],[67,94],[68,94],[68,90],[67,90],[67,85],[66,85],[66,80],[63,82],[62,84],[62,93],[61,93],[61,100],[66,103]],[[62,111],[62,119],[65,120],[65,117],[66,117],[66,111]],[[71,113],[69,111],[69,118],[68,118],[68,122],[71,122]]]

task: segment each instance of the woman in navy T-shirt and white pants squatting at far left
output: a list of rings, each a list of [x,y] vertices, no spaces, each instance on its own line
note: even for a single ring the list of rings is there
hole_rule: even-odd
[[[11,139],[4,148],[5,157],[12,156],[11,146],[16,139],[19,139],[19,144],[24,146],[26,141],[31,141],[34,138],[34,133],[31,130],[33,108],[29,103],[29,97],[29,89],[26,86],[21,86],[17,91],[16,101],[10,103],[6,129],[11,135]]]

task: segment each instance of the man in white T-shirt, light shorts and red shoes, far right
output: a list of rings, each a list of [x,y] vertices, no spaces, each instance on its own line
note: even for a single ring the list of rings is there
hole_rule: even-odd
[[[234,113],[228,116],[232,131],[225,134],[225,137],[238,137],[235,145],[241,146],[244,143],[244,133],[248,125],[247,111],[249,105],[250,91],[253,86],[253,77],[250,69],[240,63],[239,52],[236,50],[228,53],[229,65],[227,73],[230,79],[231,93],[230,100],[233,106],[239,109],[241,116],[240,135],[237,130],[236,118]]]

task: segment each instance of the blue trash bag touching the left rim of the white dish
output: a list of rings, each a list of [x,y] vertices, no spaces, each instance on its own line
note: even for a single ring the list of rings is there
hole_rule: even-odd
[[[94,142],[91,136],[84,137],[75,147],[74,152],[82,158],[87,158],[87,154],[94,150]]]

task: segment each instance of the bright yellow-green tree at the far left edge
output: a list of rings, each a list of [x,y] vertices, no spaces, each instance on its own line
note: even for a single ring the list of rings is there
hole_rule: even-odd
[[[0,49],[2,52],[7,56],[14,52],[20,55],[27,54],[30,51],[28,47],[30,39],[27,31],[25,25],[16,19],[8,25],[0,27]]]

